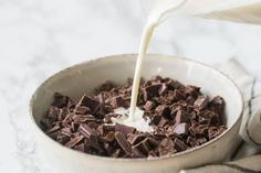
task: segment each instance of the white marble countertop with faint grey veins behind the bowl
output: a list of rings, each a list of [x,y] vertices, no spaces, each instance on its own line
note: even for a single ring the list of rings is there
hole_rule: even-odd
[[[34,89],[53,73],[104,55],[137,52],[146,15],[139,0],[0,0],[0,172],[54,172],[29,120]],[[149,52],[207,64],[236,57],[261,74],[261,25],[169,19]]]

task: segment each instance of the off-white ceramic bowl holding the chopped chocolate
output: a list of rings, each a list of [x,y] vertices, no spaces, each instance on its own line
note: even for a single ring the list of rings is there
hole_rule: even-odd
[[[31,99],[31,117],[36,131],[42,154],[58,172],[63,173],[175,173],[184,167],[226,160],[237,145],[243,101],[237,86],[220,72],[186,58],[164,55],[147,55],[143,76],[150,78],[161,75],[180,80],[184,84],[202,87],[202,91],[225,98],[226,123],[228,129],[215,140],[200,147],[171,156],[155,159],[112,159],[90,155],[67,149],[40,128],[39,121],[53,100],[53,94],[60,91],[76,99],[84,93],[92,93],[107,79],[124,84],[134,74],[136,54],[115,55],[84,62],[50,77],[35,91]]]

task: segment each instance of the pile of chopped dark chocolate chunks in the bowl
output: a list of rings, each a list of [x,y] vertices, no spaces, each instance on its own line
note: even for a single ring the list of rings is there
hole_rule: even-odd
[[[132,79],[122,87],[106,82],[94,95],[83,95],[76,101],[56,93],[41,127],[67,148],[113,158],[170,155],[206,143],[226,130],[220,96],[209,99],[199,87],[160,76],[140,83],[137,102],[154,131],[113,125],[112,117],[121,116],[114,109],[128,108],[130,93]]]

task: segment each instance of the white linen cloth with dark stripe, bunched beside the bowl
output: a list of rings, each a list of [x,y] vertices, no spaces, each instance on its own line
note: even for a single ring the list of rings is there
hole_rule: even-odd
[[[217,64],[240,88],[244,98],[244,113],[240,128],[242,142],[230,162],[182,170],[180,173],[255,173],[261,172],[261,78],[247,72],[237,60]]]

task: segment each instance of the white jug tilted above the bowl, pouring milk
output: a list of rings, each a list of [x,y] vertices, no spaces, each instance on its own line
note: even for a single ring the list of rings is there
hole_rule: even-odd
[[[261,0],[142,0],[142,3],[148,17],[160,22],[176,15],[261,24]]]

